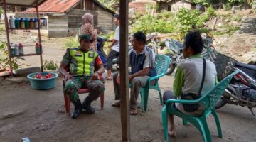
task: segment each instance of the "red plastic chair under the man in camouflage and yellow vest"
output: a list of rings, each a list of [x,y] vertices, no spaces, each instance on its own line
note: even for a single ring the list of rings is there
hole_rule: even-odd
[[[68,70],[67,70],[68,71]],[[100,75],[100,80],[102,80],[103,84],[104,84],[104,77],[102,75]],[[63,89],[65,87],[65,77],[63,76]],[[78,94],[85,94],[85,93],[89,93],[90,90],[82,87],[81,89],[78,90]],[[70,99],[65,96],[64,94],[64,101],[65,101],[65,109],[66,109],[66,113],[70,113]],[[102,94],[100,95],[100,109],[103,109],[104,107],[104,92],[102,92]]]

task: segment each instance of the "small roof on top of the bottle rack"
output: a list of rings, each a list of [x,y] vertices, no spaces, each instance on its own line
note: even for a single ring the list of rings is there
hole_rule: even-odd
[[[16,6],[36,6],[36,1],[38,4],[41,4],[43,1],[46,0],[6,0],[6,5],[16,5]],[[0,5],[3,5],[4,1],[0,0]]]

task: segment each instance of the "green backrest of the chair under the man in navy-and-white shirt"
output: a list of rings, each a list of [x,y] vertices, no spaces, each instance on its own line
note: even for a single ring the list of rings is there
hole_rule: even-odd
[[[156,55],[155,65],[157,75],[165,75],[170,63],[170,58],[166,55]]]

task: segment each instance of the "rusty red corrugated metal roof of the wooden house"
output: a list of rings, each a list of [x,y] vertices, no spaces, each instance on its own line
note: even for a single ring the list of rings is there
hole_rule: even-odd
[[[106,9],[107,11],[114,13],[114,11],[111,11],[110,9],[107,9],[107,7],[100,4],[99,1],[97,0],[91,0],[91,1],[94,1],[103,9]],[[41,4],[41,6],[38,7],[38,11],[41,13],[64,13],[69,9],[72,9],[79,2],[80,0],[46,0],[43,4]],[[36,12],[35,8],[27,9],[23,13],[33,13],[33,12]]]

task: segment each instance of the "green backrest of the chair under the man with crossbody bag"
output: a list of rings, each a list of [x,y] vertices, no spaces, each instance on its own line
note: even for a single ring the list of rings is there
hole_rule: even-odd
[[[225,77],[221,80],[210,92],[206,93],[207,95],[205,99],[203,99],[203,104],[206,104],[206,111],[210,111],[211,109],[215,108],[215,104],[220,99],[221,95],[224,93],[225,89],[228,87],[230,80],[233,78],[235,74],[239,71],[235,71],[232,74]]]

